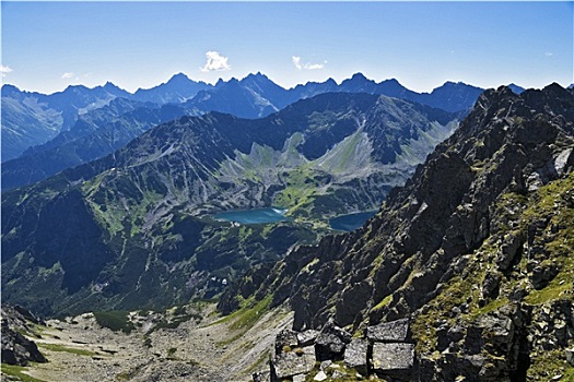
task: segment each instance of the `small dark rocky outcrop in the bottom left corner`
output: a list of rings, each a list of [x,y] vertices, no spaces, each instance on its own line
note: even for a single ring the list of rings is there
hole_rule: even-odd
[[[47,362],[34,341],[24,336],[24,334],[38,336],[33,330],[33,324],[43,322],[21,307],[2,305],[1,313],[2,362],[19,366]]]

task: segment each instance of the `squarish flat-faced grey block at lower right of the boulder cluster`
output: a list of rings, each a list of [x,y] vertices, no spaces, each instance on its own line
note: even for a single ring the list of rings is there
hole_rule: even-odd
[[[414,345],[412,344],[383,344],[373,345],[372,367],[375,371],[403,371],[412,369],[414,365]]]

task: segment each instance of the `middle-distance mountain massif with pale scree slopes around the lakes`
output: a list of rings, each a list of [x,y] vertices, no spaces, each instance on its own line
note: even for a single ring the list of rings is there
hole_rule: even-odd
[[[3,297],[49,314],[209,298],[253,264],[314,242],[328,217],[378,206],[457,123],[441,109],[350,93],[261,119],[171,120],[2,193]],[[270,205],[293,220],[230,227],[210,217]]]

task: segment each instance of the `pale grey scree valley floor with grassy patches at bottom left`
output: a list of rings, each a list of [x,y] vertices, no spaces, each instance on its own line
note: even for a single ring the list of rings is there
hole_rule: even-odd
[[[7,309],[2,324],[13,317]],[[255,308],[221,319],[213,303],[195,303],[27,322],[27,341],[45,360],[7,365],[2,329],[2,380],[249,381],[268,368],[274,337],[292,318],[284,309]]]

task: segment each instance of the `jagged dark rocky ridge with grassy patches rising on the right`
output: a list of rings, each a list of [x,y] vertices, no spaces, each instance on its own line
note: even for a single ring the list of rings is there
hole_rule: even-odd
[[[407,367],[388,377],[368,356],[367,372],[391,380],[572,380],[573,150],[572,89],[487,91],[364,227],[253,271],[219,307],[267,298],[293,309],[296,332],[336,325],[356,337],[407,320]],[[338,337],[333,362],[350,344]]]

